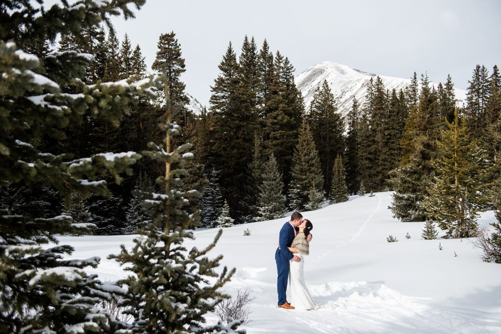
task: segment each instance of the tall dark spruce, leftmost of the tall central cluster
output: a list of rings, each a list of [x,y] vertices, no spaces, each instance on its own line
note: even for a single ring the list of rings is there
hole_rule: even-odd
[[[237,222],[248,215],[245,203],[249,183],[248,165],[252,160],[255,114],[243,87],[240,68],[231,43],[219,64],[221,73],[214,80],[210,96],[212,126],[208,132],[207,167],[220,172],[221,190],[228,199],[230,213]]]

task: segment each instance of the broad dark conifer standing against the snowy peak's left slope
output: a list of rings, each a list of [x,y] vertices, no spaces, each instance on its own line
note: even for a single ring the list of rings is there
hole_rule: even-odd
[[[337,112],[336,101],[331,88],[324,80],[322,88],[317,87],[310,104],[307,119],[312,127],[313,137],[320,155],[324,184],[329,191],[332,180],[332,165],[337,154],[344,152],[344,121]]]

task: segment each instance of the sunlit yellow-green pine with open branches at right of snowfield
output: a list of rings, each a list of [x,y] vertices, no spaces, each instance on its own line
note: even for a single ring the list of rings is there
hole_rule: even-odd
[[[478,211],[485,208],[484,178],[489,166],[478,139],[472,139],[466,118],[441,130],[437,157],[432,161],[434,177],[427,187],[423,208],[429,220],[436,221],[447,235],[469,237],[477,228]]]

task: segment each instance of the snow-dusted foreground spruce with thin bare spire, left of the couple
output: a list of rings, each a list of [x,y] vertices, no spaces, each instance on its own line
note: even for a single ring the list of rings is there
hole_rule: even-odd
[[[150,150],[143,151],[143,155],[160,162],[165,168],[164,174],[156,179],[162,191],[137,191],[150,206],[151,213],[151,221],[138,229],[144,236],[143,241],[135,239],[131,250],[122,245],[120,254],[110,255],[133,273],[118,282],[128,287],[121,302],[124,313],[134,317],[127,329],[134,333],[234,332],[240,320],[230,321],[228,325],[222,322],[205,325],[204,314],[213,311],[227,297],[218,289],[229,281],[235,269],[228,272],[224,267],[217,274],[214,269],[219,266],[222,255],[213,259],[205,256],[216,245],[222,229],[204,249],[193,247],[188,251],[183,245],[185,238],[194,239],[189,228],[200,225],[198,212],[189,214],[186,211],[187,197],[198,196],[198,191],[178,190],[182,177],[186,175],[184,165],[194,156],[187,152],[190,143],[172,144],[173,137],[181,130],[172,121],[172,114],[178,112],[182,104],[172,111],[165,71],[163,82],[166,119],[161,128],[164,141],[162,144],[149,142]],[[217,278],[209,282],[212,277]]]

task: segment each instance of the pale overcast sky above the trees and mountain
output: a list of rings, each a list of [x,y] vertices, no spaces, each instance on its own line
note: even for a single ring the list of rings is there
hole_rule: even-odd
[[[228,42],[245,34],[288,56],[296,75],[320,61],[432,81],[451,74],[465,89],[475,64],[501,66],[498,0],[147,0],[131,20],[114,19],[151,66],[161,33],[174,31],[186,59],[186,91],[208,106]]]

